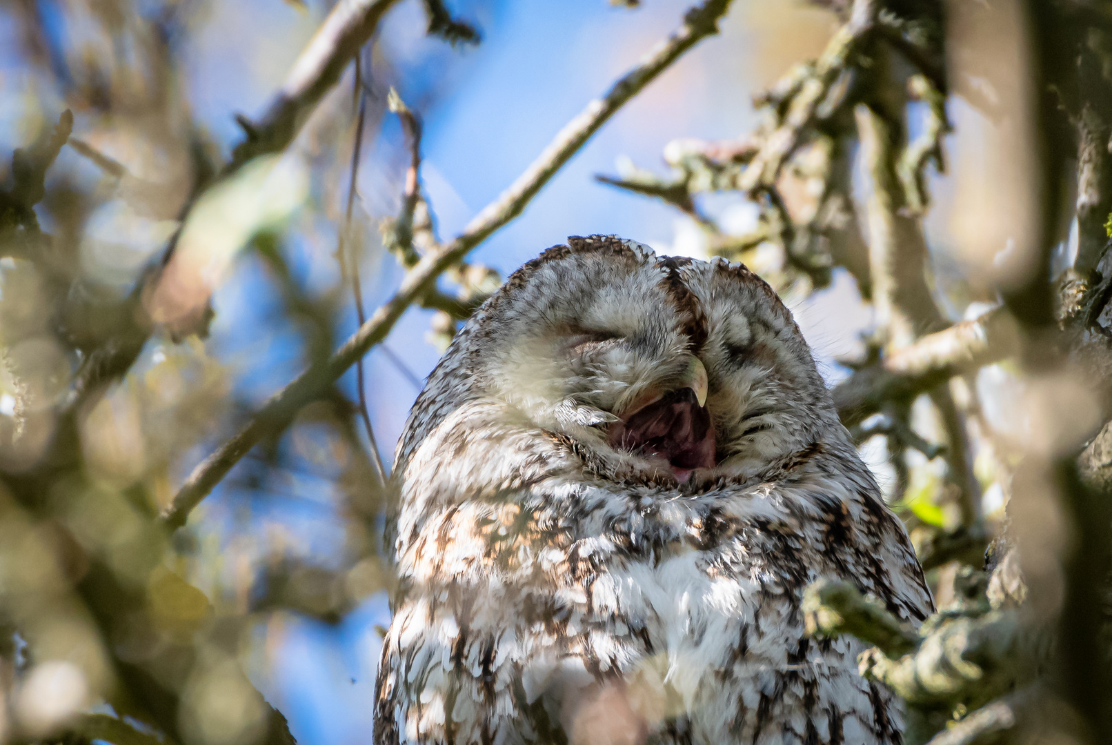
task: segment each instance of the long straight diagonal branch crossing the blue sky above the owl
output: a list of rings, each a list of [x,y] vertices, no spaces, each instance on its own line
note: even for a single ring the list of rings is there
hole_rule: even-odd
[[[379,307],[367,322],[344,342],[331,359],[310,367],[282,388],[246,427],[201,461],[175,495],[170,506],[162,514],[162,520],[171,528],[185,525],[190,510],[248,450],[266,435],[285,428],[302,406],[316,399],[368,349],[385,339],[406,309],[434,286],[436,278],[443,271],[460,261],[490,234],[517,217],[556,171],[578,152],[590,136],[622,106],[696,42],[716,33],[718,19],[725,14],[728,7],[729,0],[704,0],[688,10],[679,29],[615,82],[603,98],[588,103],[577,117],[565,125],[525,172],[467,225],[463,235],[439,250],[425,256],[405,277],[394,297]]]

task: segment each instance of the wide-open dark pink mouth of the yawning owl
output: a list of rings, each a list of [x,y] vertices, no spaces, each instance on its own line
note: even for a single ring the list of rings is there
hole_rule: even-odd
[[[714,427],[695,391],[681,388],[610,426],[613,447],[663,458],[681,484],[696,468],[714,466]]]

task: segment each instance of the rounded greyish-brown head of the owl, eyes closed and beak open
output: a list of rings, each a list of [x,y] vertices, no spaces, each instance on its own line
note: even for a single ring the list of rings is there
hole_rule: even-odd
[[[677,487],[845,445],[791,312],[738,264],[568,238],[506,281],[456,336],[410,415],[399,464],[481,405],[574,448],[600,477]]]

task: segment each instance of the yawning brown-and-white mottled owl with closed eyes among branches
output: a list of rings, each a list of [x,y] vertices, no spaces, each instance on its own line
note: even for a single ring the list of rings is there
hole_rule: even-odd
[[[743,265],[573,237],[456,336],[398,446],[376,745],[902,742],[834,577],[917,624],[901,522]]]

